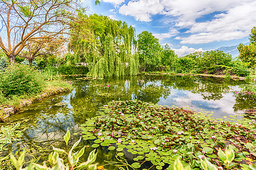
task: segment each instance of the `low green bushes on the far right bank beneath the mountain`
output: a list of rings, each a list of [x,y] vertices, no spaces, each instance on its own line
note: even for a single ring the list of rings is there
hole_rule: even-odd
[[[196,52],[177,58],[174,67],[176,73],[249,75],[249,72],[245,71],[246,66],[239,59],[232,61],[230,54],[219,50]]]

